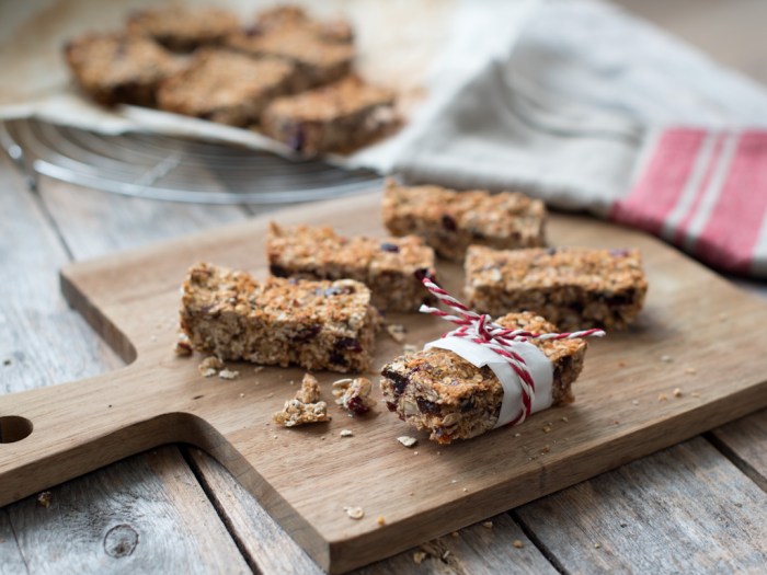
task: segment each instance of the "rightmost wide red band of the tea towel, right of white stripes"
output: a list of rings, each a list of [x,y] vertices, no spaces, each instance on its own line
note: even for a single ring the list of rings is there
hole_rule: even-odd
[[[696,253],[713,265],[747,273],[767,210],[767,131],[745,131]]]

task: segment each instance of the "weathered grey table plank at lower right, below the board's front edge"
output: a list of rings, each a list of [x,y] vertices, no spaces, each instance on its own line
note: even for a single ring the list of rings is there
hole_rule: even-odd
[[[515,511],[569,573],[758,573],[767,495],[702,438]]]

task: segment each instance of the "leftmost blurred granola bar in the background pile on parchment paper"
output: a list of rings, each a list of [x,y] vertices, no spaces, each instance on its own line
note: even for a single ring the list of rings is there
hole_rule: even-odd
[[[160,82],[182,68],[178,57],[149,38],[89,34],[65,47],[77,82],[105,106],[153,106]]]

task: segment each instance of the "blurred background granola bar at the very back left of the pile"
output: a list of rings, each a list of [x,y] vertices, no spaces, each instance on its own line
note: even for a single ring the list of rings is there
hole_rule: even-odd
[[[238,27],[234,14],[218,8],[148,9],[136,11],[128,19],[130,34],[149,36],[173,51],[219,45]]]

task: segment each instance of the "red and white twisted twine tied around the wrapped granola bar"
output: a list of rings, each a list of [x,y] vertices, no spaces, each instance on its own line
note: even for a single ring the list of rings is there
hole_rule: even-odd
[[[536,393],[536,383],[527,369],[525,359],[514,350],[515,343],[528,340],[575,340],[580,337],[602,337],[605,335],[603,330],[597,329],[570,333],[533,333],[525,330],[510,330],[494,323],[486,313],[477,313],[470,310],[428,277],[424,277],[421,281],[443,304],[458,312],[458,315],[451,315],[437,308],[426,304],[421,306],[419,311],[422,313],[431,313],[458,325],[458,329],[443,334],[443,337],[467,337],[473,343],[491,348],[503,357],[518,376],[522,387],[523,409],[519,415],[510,422],[508,425],[520,424],[529,417]]]

